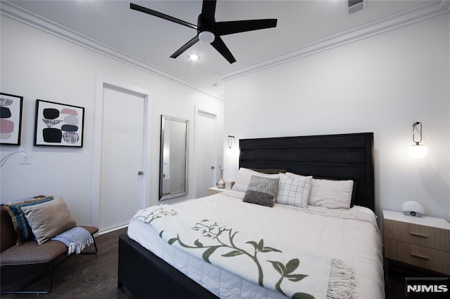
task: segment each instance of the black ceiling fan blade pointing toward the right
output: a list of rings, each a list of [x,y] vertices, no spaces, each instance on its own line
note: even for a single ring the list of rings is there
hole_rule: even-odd
[[[217,22],[215,25],[215,34],[226,35],[259,29],[273,28],[276,27],[276,21],[277,21],[276,19],[262,19],[262,20]]]

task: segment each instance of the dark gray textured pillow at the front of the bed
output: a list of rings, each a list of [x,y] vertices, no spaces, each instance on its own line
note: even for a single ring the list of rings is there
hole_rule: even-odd
[[[279,178],[252,175],[243,201],[250,204],[260,204],[261,206],[274,206],[279,180]]]

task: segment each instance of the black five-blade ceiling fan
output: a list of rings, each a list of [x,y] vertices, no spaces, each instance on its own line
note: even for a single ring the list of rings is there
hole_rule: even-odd
[[[202,13],[198,15],[197,25],[193,25],[184,20],[153,11],[150,8],[139,6],[137,4],[130,4],[130,8],[135,11],[141,11],[142,13],[148,13],[155,17],[176,22],[177,24],[184,25],[197,30],[197,35],[188,41],[184,46],[181,46],[170,57],[177,58],[181,53],[193,46],[197,41],[211,44],[226,60],[230,63],[236,62],[236,59],[231,54],[229,48],[226,47],[224,41],[220,38],[222,35],[234,34],[239,32],[246,32],[252,30],[266,29],[276,27],[277,19],[261,19],[261,20],[240,20],[229,22],[216,22],[214,15],[216,12],[217,0],[203,0]]]

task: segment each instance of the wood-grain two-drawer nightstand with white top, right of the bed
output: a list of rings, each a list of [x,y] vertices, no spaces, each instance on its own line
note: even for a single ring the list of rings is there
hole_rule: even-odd
[[[450,275],[450,223],[383,210],[385,258]]]

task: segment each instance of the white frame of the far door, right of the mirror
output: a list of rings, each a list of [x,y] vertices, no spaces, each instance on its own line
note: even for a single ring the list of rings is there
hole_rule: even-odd
[[[213,137],[213,152],[212,152],[212,159],[214,161],[214,167],[215,164],[217,164],[217,115],[218,113],[215,111],[211,111],[211,109],[205,109],[205,107],[198,107],[197,105],[194,106],[194,183],[193,183],[193,198],[197,198],[197,182],[198,182],[198,117],[199,113],[205,113],[210,114],[214,117],[214,137]],[[217,168],[214,168],[213,175],[212,175],[212,181],[215,182],[217,180]]]

